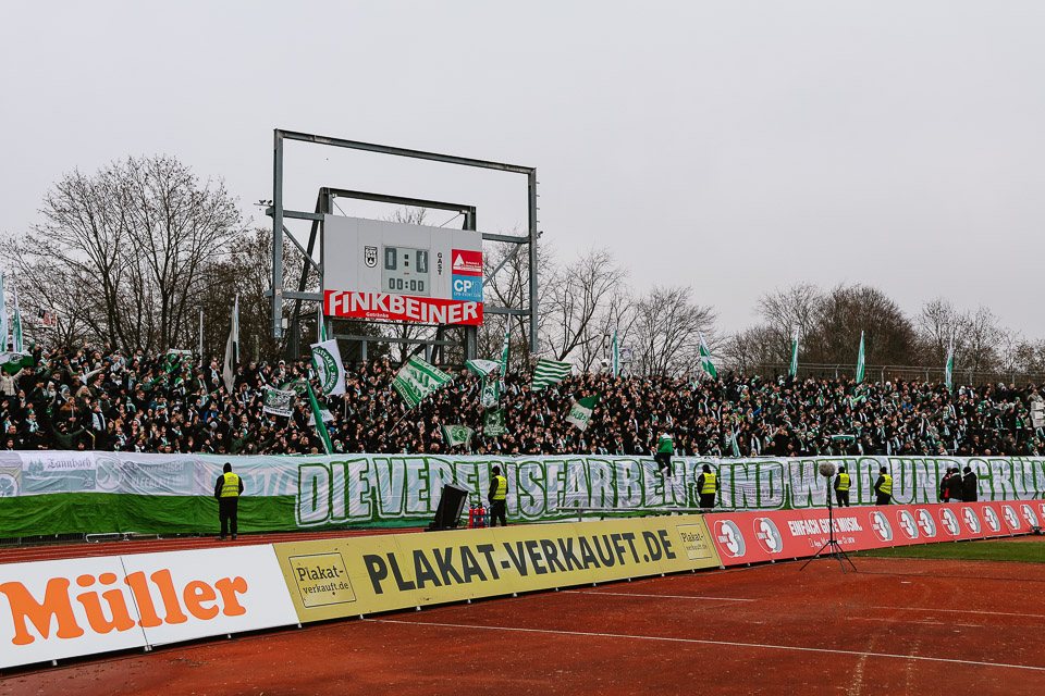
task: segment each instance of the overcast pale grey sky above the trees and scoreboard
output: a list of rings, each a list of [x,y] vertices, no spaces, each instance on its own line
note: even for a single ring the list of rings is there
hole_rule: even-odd
[[[9,2],[0,232],[64,172],[155,153],[267,224],[281,127],[534,165],[560,257],[607,247],[639,290],[692,285],[723,332],[809,281],[909,313],[984,303],[1045,337],[1043,20],[1036,1]],[[526,224],[520,176],[304,144],[286,161],[290,207],[340,186]]]

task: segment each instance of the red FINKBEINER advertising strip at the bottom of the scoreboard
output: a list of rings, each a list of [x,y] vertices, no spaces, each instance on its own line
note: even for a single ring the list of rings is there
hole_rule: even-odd
[[[482,325],[482,302],[409,297],[384,293],[323,293],[323,313],[328,316],[386,319],[428,324]]]

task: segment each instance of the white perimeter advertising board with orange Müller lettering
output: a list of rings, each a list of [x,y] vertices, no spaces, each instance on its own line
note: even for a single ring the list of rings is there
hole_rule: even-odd
[[[0,668],[293,623],[269,545],[0,564]]]

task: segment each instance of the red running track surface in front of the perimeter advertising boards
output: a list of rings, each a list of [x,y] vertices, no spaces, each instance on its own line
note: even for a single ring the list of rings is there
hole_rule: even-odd
[[[856,559],[527,595],[60,666],[10,694],[1038,694],[1045,564]]]

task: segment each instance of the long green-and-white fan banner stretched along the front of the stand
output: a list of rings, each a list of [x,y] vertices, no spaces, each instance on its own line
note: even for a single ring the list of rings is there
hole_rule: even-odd
[[[717,471],[717,505],[742,509],[823,507],[821,462],[845,465],[853,505],[872,504],[880,467],[894,477],[897,504],[936,502],[952,467],[979,476],[980,500],[1045,498],[1045,460],[1023,458],[822,457],[706,459],[676,457],[675,475],[652,458],[428,457],[333,455],[219,457],[119,452],[0,452],[0,538],[65,533],[210,533],[218,529],[214,482],[224,462],[243,477],[244,532],[427,523],[443,484],[482,497],[490,470],[508,480],[514,521],[563,519],[577,507],[696,507],[703,464]]]

